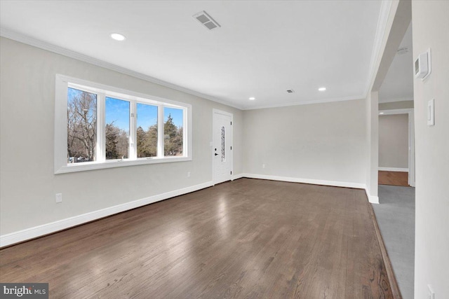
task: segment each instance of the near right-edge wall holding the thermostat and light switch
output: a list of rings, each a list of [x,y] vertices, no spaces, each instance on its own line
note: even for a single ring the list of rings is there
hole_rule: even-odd
[[[431,74],[415,79],[415,298],[449,298],[449,1],[412,1],[413,57],[431,48]],[[435,125],[427,101],[435,99]]]

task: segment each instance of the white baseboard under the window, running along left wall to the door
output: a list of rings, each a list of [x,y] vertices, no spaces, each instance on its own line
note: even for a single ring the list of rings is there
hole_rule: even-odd
[[[142,207],[147,204],[152,204],[153,202],[159,202],[161,200],[166,200],[170,197],[175,197],[183,195],[186,193],[191,193],[197,190],[208,188],[213,186],[212,181],[206,183],[201,183],[199,185],[190,186],[187,188],[182,188],[178,190],[173,190],[167,193],[162,193],[158,195],[153,195],[150,197],[142,198],[140,200],[134,200],[132,202],[126,202],[124,204],[118,204],[114,207],[107,207],[105,209],[100,209],[97,211],[91,211],[86,214],[81,214],[78,216],[73,216],[70,218],[65,218],[62,220],[54,221],[51,223],[46,223],[43,225],[35,226],[34,228],[27,228],[25,230],[20,230],[18,232],[11,232],[6,235],[0,236],[0,247],[8,246],[18,242],[26,241],[27,239],[34,239],[36,237],[41,237],[43,235],[51,234],[52,232],[58,232],[59,230],[65,230],[67,228],[72,228],[73,226],[80,225],[89,221],[94,221],[99,218],[106,216],[111,216],[122,211],[128,211],[130,209],[135,209],[137,207]]]

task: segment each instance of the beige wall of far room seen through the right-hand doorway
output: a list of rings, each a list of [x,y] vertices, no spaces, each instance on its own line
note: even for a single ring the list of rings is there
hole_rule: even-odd
[[[408,168],[408,114],[379,116],[379,167]]]

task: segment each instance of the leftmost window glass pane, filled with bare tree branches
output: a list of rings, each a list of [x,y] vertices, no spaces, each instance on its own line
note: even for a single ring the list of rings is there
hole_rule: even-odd
[[[97,95],[67,90],[67,162],[95,161]]]

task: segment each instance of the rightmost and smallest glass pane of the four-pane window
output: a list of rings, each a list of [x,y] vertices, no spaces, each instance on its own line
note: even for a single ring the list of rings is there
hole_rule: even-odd
[[[182,155],[183,115],[182,109],[163,108],[163,155]]]

